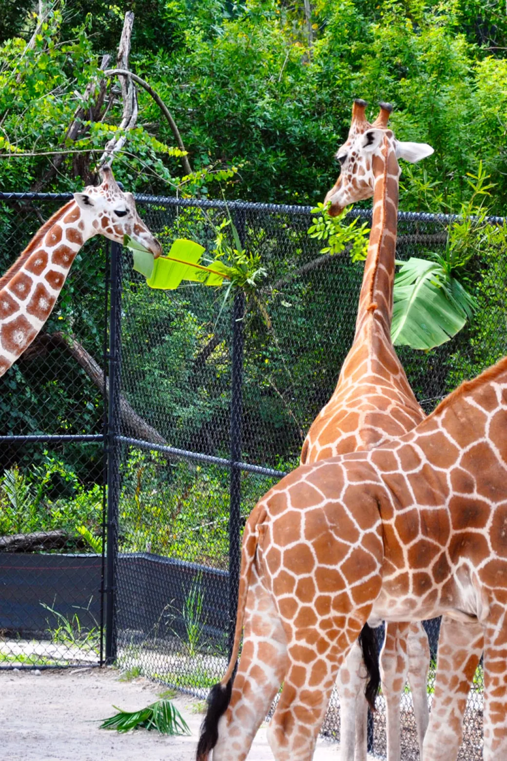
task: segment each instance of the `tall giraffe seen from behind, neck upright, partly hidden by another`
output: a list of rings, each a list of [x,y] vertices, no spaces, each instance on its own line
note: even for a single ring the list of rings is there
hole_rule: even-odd
[[[401,143],[388,129],[392,106],[380,103],[370,124],[366,102],[355,100],[347,142],[338,148],[341,173],[329,191],[329,213],[373,196],[372,230],[356,319],[356,333],[331,400],[312,423],[301,463],[371,449],[403,435],[425,414],[408,384],[391,342],[392,298],[398,224],[398,157],[420,161],[433,153],[426,144]],[[426,681],[429,645],[420,622],[386,625],[381,655],[382,694],[386,701],[388,761],[399,761],[401,693],[408,681],[414,698],[420,753],[428,726]],[[338,673],[341,761],[366,761],[363,658],[356,642]]]

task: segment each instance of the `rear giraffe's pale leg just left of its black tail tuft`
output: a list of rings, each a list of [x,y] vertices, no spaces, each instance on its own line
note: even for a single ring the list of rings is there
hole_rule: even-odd
[[[365,678],[363,653],[356,640],[337,677],[340,696],[340,761],[366,761],[368,704],[364,696]]]

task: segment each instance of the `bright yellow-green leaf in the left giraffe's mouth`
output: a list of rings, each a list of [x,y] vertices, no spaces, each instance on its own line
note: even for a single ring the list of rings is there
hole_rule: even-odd
[[[147,279],[150,288],[174,290],[182,280],[200,282],[202,285],[222,285],[223,279],[231,279],[233,269],[215,260],[209,266],[199,264],[204,248],[195,240],[177,238],[167,256],[154,259],[152,254],[125,235],[124,245],[132,250],[134,269]]]

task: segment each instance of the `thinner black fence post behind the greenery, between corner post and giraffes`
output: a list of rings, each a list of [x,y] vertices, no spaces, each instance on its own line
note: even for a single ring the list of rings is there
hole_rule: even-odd
[[[244,245],[245,215],[237,212],[235,218],[239,240]],[[243,317],[245,295],[238,289],[233,301],[233,349],[230,400],[230,511],[229,511],[229,657],[233,651],[236,629],[236,608],[239,592],[239,566],[241,565],[241,461],[242,406],[243,406]]]

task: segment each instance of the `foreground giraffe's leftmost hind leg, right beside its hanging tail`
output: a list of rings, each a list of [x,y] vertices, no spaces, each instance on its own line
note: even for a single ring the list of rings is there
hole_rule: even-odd
[[[243,649],[230,704],[218,723],[213,761],[245,759],[287,671],[287,640],[273,598],[254,563]]]

